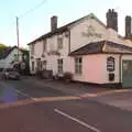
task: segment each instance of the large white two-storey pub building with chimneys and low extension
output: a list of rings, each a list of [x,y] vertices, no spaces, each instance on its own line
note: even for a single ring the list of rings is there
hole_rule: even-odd
[[[90,13],[57,28],[57,16],[51,19],[52,31],[29,43],[31,73],[53,70],[53,75],[70,72],[74,80],[132,86],[131,16],[125,18],[125,37],[118,34],[118,13],[109,10],[107,25]]]

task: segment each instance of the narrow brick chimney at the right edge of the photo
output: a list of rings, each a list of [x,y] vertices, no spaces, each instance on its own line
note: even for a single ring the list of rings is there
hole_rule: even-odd
[[[131,16],[125,16],[125,38],[131,38]]]

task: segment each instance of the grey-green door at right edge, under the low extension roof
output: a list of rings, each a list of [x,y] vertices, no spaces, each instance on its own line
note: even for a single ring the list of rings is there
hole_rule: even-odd
[[[132,61],[122,61],[123,87],[132,87]]]

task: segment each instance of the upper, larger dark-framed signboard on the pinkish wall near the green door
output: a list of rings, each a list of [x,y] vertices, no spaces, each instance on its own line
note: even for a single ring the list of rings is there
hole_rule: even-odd
[[[114,57],[112,56],[107,58],[107,70],[114,72]]]

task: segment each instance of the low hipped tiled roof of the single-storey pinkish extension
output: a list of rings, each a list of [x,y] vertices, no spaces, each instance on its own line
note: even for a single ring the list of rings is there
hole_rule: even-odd
[[[100,41],[89,43],[79,50],[72,52],[69,55],[87,55],[87,54],[99,54],[99,53],[112,53],[112,54],[132,54],[132,47],[118,44],[110,41]]]

